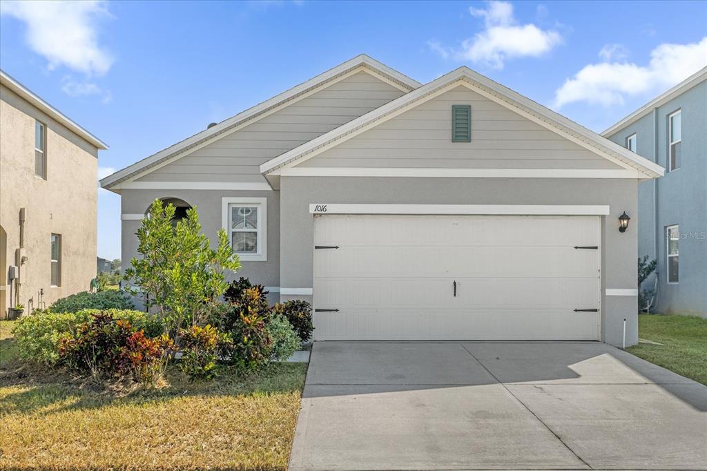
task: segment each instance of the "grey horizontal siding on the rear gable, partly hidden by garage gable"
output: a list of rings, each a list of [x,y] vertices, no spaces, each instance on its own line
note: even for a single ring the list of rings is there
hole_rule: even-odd
[[[153,170],[137,181],[265,182],[258,169],[261,163],[403,94],[361,71]]]

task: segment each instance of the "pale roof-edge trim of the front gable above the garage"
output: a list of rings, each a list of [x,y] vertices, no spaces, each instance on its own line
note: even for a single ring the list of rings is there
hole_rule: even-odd
[[[264,175],[277,175],[277,171],[280,168],[295,165],[298,161],[329,149],[337,141],[349,139],[359,132],[370,129],[370,127],[374,127],[376,124],[399,114],[402,110],[407,110],[417,103],[423,103],[423,101],[438,93],[440,89],[450,86],[452,83],[461,83],[460,81],[469,84],[474,91],[485,95],[487,98],[496,101],[496,103],[500,103],[520,115],[529,117],[529,119],[575,141],[575,143],[584,146],[586,149],[598,153],[609,160],[623,163],[625,167],[629,166],[638,170],[646,178],[655,178],[663,175],[664,169],[660,165],[605,139],[590,129],[580,126],[580,124],[568,120],[566,117],[549,110],[549,108],[510,90],[510,88],[506,88],[481,74],[477,74],[477,72],[466,66],[455,69],[449,74],[441,76],[406,95],[402,95],[396,100],[392,100],[366,113],[366,115],[351,120],[291,151],[272,158],[260,165],[260,171]]]

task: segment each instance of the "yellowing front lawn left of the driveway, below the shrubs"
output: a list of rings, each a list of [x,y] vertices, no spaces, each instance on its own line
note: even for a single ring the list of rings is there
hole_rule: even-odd
[[[107,390],[22,364],[0,322],[0,469],[286,470],[305,364]]]

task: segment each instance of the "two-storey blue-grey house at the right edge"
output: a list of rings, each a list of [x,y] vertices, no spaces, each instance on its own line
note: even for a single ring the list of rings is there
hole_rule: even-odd
[[[707,316],[707,67],[602,135],[666,169],[638,185],[638,255],[658,261],[650,309]]]

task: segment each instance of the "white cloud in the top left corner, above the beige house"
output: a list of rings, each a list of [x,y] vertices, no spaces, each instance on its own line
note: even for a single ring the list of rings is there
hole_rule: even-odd
[[[26,40],[44,56],[50,70],[58,66],[87,75],[105,74],[113,59],[98,44],[98,21],[109,17],[103,1],[0,2],[0,13],[27,25]]]

